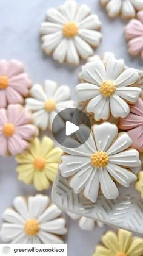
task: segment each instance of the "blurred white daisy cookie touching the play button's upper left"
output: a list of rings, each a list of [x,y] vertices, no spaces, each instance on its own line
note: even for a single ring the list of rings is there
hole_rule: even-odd
[[[33,112],[35,125],[42,130],[47,128],[53,132],[61,130],[65,126],[62,117],[59,117],[58,126],[52,127],[52,123],[57,113],[66,108],[74,107],[70,88],[67,85],[58,87],[56,82],[45,80],[44,87],[38,84],[33,85],[30,94],[33,98],[25,100],[25,107]]]

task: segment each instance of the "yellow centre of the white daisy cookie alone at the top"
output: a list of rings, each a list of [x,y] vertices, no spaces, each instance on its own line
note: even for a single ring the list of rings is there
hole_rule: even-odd
[[[62,32],[65,37],[75,37],[78,34],[78,26],[73,21],[69,21],[64,24]]]

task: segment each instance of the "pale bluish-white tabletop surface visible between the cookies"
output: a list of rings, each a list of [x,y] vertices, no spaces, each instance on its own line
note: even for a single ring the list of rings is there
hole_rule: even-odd
[[[132,58],[127,52],[124,39],[124,26],[127,22],[120,18],[115,20],[108,18],[99,0],[77,1],[79,4],[88,4],[102,21],[103,38],[96,53],[113,51],[116,57],[124,58],[128,66],[141,68],[143,63],[139,58]],[[39,38],[39,27],[45,20],[46,10],[49,7],[58,7],[63,2],[63,0],[0,0],[0,59],[15,58],[23,62],[33,84],[42,84],[45,79],[56,80],[59,85],[67,84],[75,98],[74,87],[78,84],[80,66],[59,65],[52,57],[44,55]],[[18,182],[15,167],[14,158],[0,157],[0,225],[2,212],[12,205],[15,196],[36,194],[33,185],[27,186]],[[50,194],[50,192],[44,191],[44,194]],[[85,232],[79,229],[77,222],[71,221],[68,217],[67,221],[68,234],[65,241],[68,243],[68,256],[92,255],[101,234],[105,229],[110,228],[96,227],[92,232]],[[2,243],[1,240],[0,243]]]

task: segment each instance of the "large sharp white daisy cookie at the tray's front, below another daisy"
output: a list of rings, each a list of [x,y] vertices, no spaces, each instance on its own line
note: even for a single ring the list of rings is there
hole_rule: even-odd
[[[136,175],[130,168],[141,165],[139,153],[128,149],[132,143],[130,137],[127,133],[118,135],[115,124],[93,126],[93,133],[81,144],[85,132],[89,132],[88,127],[81,127],[81,133],[76,134],[79,141],[68,138],[66,146],[62,146],[65,155],[59,165],[61,174],[69,178],[76,194],[83,192],[92,202],[97,200],[99,185],[107,199],[115,199],[119,196],[115,181],[124,187],[135,182]]]

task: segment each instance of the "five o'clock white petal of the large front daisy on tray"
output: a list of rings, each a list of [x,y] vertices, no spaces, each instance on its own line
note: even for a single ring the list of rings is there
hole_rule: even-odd
[[[119,196],[118,188],[109,176],[106,168],[99,168],[99,181],[101,191],[107,199],[115,199]]]

